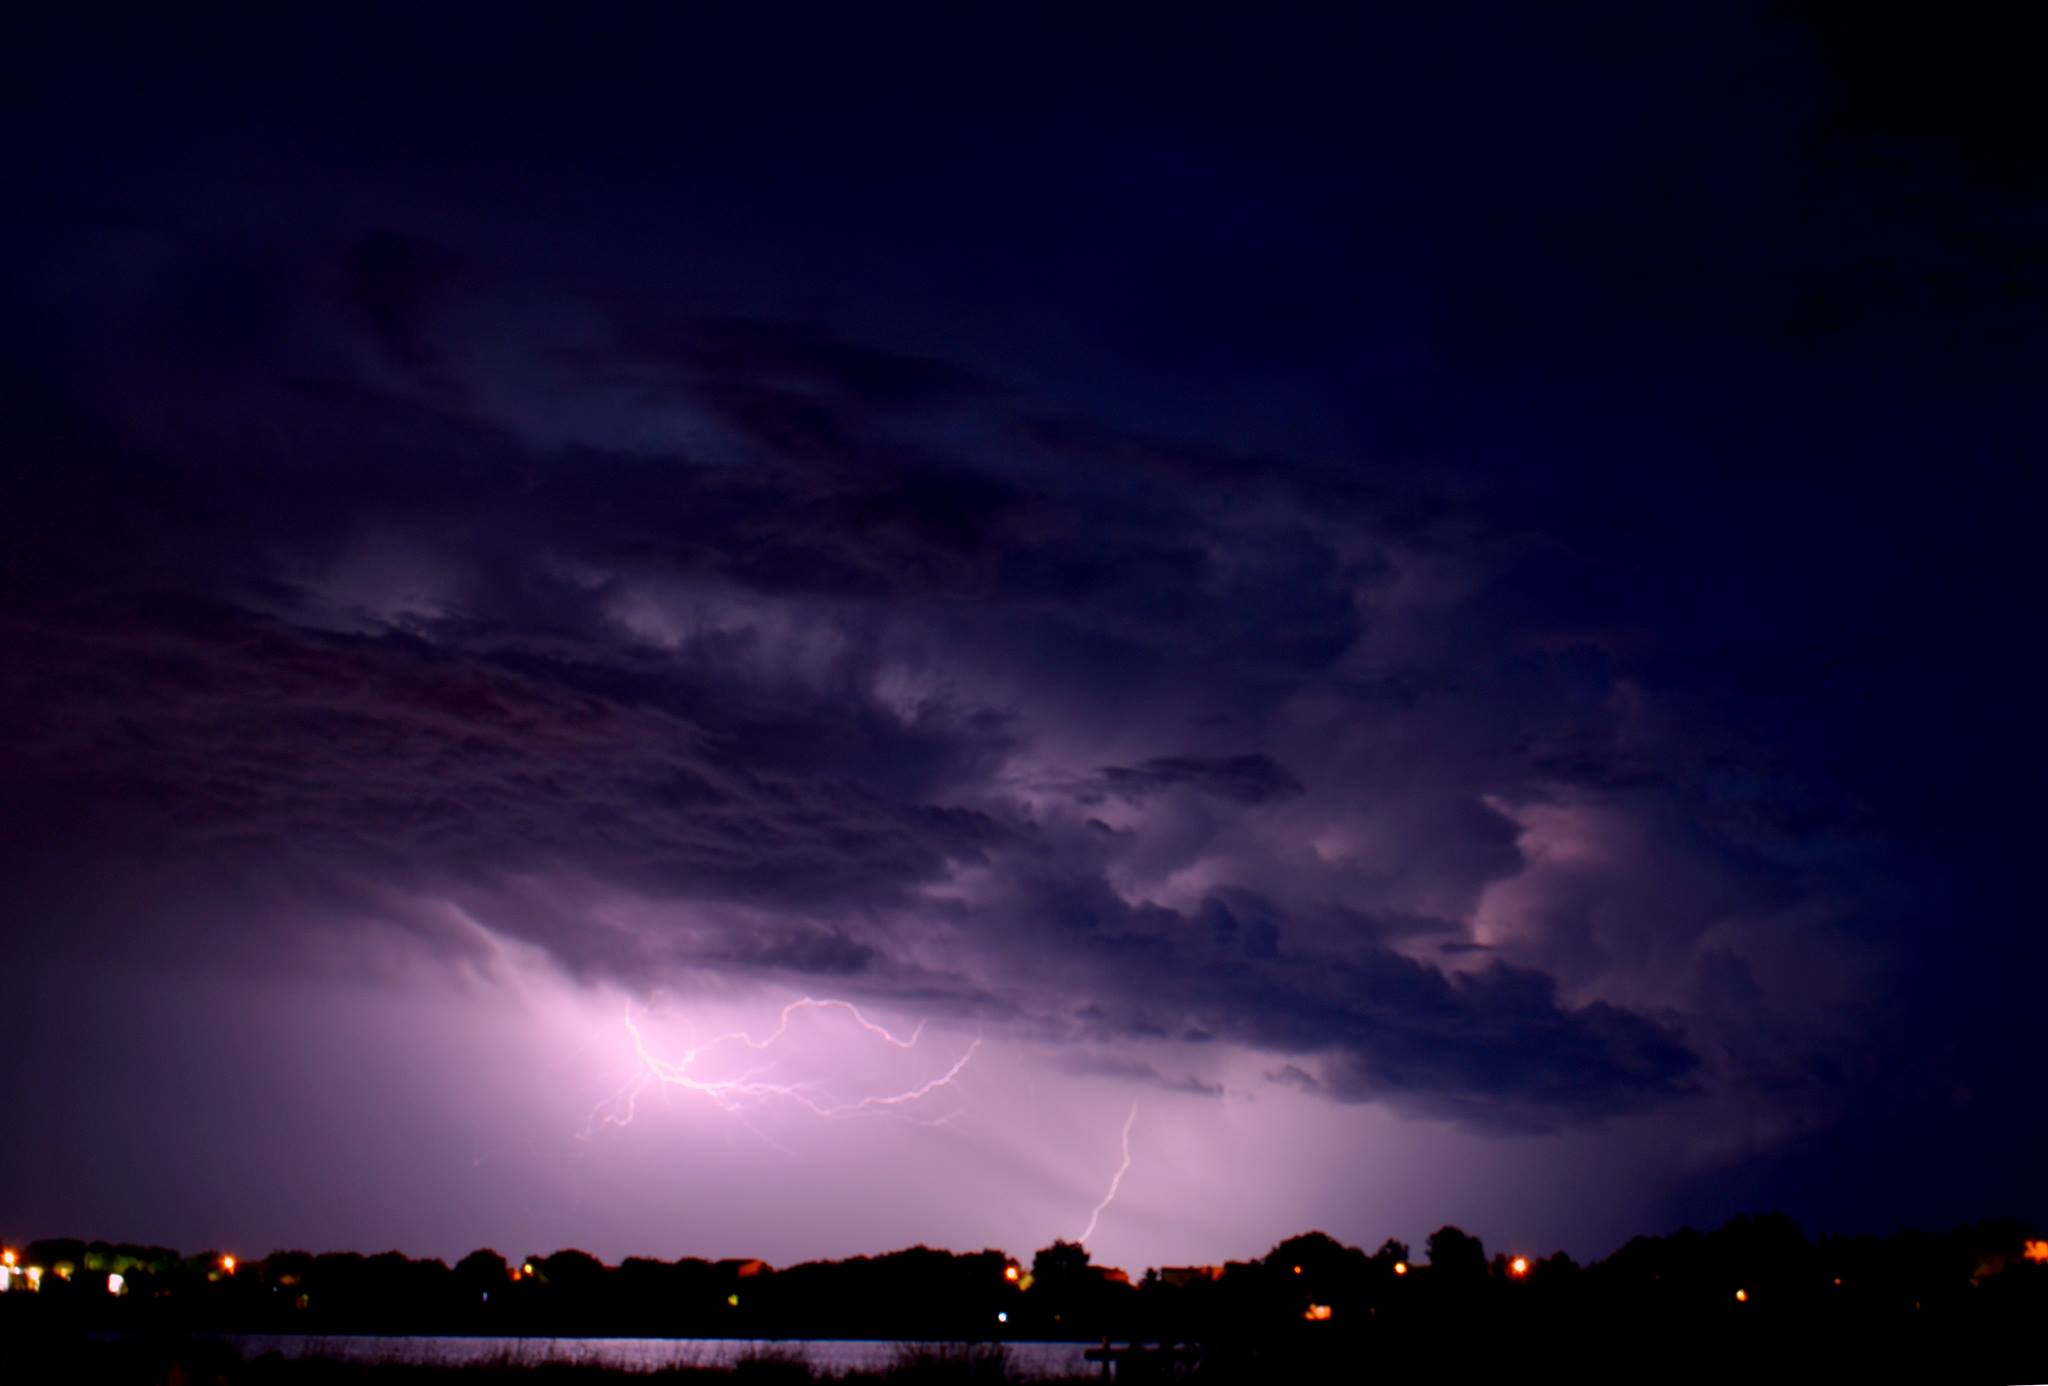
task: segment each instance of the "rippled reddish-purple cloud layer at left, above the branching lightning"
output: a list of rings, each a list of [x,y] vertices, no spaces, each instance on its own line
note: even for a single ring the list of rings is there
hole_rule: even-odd
[[[862,774],[868,757],[901,786],[942,774],[938,729],[739,700],[631,651],[598,665],[487,631],[309,631],[197,598],[66,614],[92,624],[16,612],[16,774],[223,846],[850,903],[997,835],[967,809],[881,798],[883,776]]]

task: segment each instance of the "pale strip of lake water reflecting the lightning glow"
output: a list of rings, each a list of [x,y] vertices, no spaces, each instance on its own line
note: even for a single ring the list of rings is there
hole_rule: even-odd
[[[748,1341],[748,1339],[522,1339],[522,1337],[305,1337],[285,1333],[236,1333],[229,1343],[244,1357],[279,1353],[283,1357],[332,1357],[338,1361],[377,1361],[408,1366],[545,1366],[571,1361],[578,1366],[625,1368],[651,1372],[655,1368],[729,1368],[750,1353],[799,1353],[821,1374],[881,1370],[897,1359],[897,1343],[858,1339],[821,1341]],[[1087,1343],[1006,1343],[1010,1361],[1030,1376],[1071,1376],[1092,1372],[1081,1353]]]

